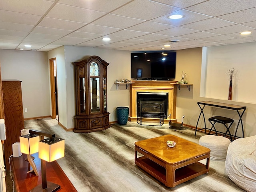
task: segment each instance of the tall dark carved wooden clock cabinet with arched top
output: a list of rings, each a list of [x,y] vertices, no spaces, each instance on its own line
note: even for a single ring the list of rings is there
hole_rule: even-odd
[[[76,81],[75,133],[105,130],[110,126],[107,111],[107,66],[98,56],[74,62]]]

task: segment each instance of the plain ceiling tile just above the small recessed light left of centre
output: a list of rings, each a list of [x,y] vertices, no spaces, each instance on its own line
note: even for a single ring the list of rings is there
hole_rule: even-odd
[[[81,32],[96,33],[96,34],[102,34],[102,35],[111,34],[111,33],[117,32],[119,30],[121,30],[121,29],[100,26],[100,25],[93,25],[93,24],[88,24],[88,25],[78,29],[78,31],[81,31]]]

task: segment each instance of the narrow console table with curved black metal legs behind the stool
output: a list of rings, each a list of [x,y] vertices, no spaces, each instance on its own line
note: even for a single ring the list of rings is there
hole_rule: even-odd
[[[210,130],[209,128],[206,128],[206,122],[205,122],[203,110],[204,110],[205,106],[212,106],[212,107],[219,107],[219,108],[225,108],[225,109],[230,109],[230,110],[236,110],[236,112],[238,113],[238,116],[239,116],[239,121],[238,121],[238,124],[236,126],[236,132],[237,132],[238,126],[239,126],[239,124],[241,122],[242,137],[244,137],[244,126],[243,126],[243,122],[242,122],[242,116],[243,116],[243,114],[244,114],[244,112],[246,110],[246,106],[232,105],[232,104],[226,104],[226,103],[220,103],[220,102],[212,102],[212,101],[201,101],[201,102],[197,102],[197,104],[198,104],[199,108],[201,109],[201,112],[199,114],[199,117],[198,117],[198,120],[197,120],[197,123],[196,123],[196,131],[204,129],[204,133],[206,133],[206,129]],[[202,106],[200,106],[200,105],[202,105]],[[240,110],[242,110],[242,111],[240,111]],[[203,118],[204,118],[204,128],[197,129],[198,122],[199,122],[201,114],[203,115]],[[232,136],[234,136],[234,139],[236,139],[236,132],[235,132],[235,135],[232,135]],[[222,132],[220,132],[220,133],[222,133]],[[196,136],[196,132],[195,132],[195,136]]]

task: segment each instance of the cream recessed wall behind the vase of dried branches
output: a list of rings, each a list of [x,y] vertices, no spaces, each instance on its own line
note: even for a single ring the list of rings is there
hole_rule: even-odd
[[[256,104],[256,89],[252,85],[256,74],[256,42],[208,47],[205,54],[206,97],[228,99],[227,72],[234,68],[238,72],[232,81],[232,100]]]

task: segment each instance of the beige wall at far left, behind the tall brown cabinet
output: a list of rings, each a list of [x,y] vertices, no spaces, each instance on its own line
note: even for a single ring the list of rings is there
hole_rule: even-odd
[[[24,118],[50,115],[47,53],[0,49],[2,79],[22,81]]]

